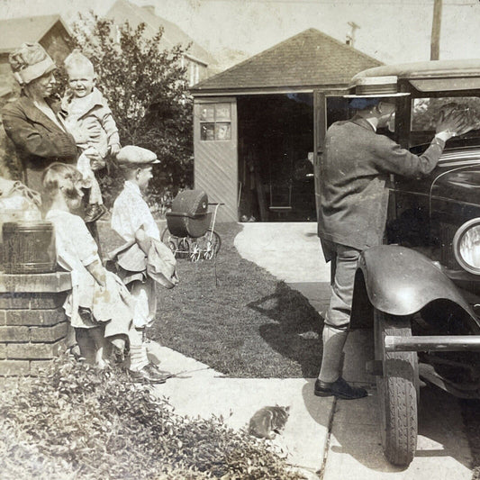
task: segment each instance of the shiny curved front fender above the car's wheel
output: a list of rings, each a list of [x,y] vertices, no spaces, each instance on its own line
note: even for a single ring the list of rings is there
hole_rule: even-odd
[[[362,253],[358,268],[363,274],[369,303],[381,312],[411,315],[428,303],[442,299],[457,303],[475,318],[457,286],[418,251],[380,245]],[[357,275],[356,284],[360,277]]]

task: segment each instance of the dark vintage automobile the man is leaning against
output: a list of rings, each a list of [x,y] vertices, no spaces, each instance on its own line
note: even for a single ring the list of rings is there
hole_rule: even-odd
[[[406,94],[396,99],[392,133],[403,148],[427,149],[442,111],[463,110],[470,125],[448,140],[428,177],[391,177],[385,244],[358,264],[351,325],[373,325],[367,369],[376,376],[385,457],[406,466],[421,381],[480,398],[480,60],[370,68],[351,85],[385,76]],[[325,101],[335,120],[342,108],[349,116],[345,100]]]

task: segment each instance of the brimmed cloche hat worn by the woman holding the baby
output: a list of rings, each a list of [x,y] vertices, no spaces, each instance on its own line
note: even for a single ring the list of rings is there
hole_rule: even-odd
[[[14,70],[15,80],[21,86],[57,68],[50,55],[37,42],[23,43],[9,55],[8,61]]]

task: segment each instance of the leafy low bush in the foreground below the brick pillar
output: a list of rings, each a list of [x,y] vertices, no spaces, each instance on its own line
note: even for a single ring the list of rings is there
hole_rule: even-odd
[[[5,480],[301,478],[267,443],[222,418],[179,416],[122,371],[59,358],[2,390]]]

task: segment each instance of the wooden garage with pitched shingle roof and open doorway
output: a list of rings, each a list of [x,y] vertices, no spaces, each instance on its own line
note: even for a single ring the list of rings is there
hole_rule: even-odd
[[[218,220],[316,221],[323,96],[379,65],[309,29],[193,86],[195,188],[225,204]]]

